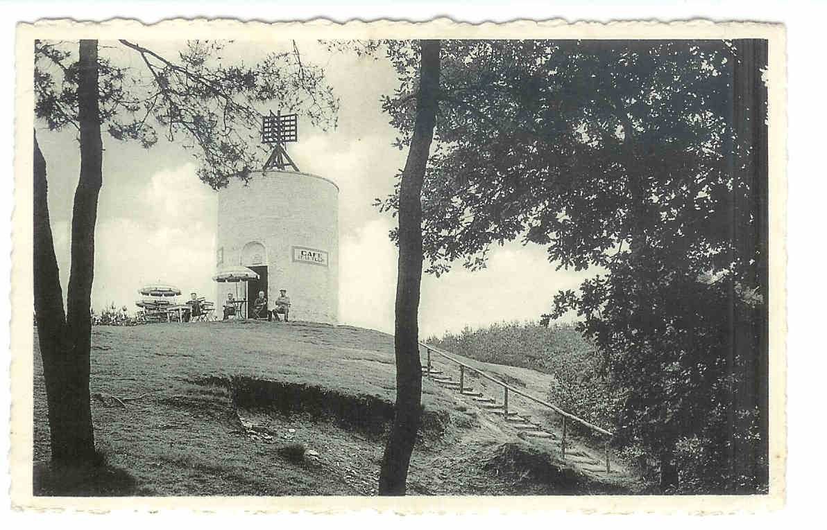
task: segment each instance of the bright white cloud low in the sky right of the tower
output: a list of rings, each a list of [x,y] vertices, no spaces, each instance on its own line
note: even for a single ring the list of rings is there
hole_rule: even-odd
[[[388,333],[394,330],[397,259],[390,219],[370,221],[340,244],[339,319]],[[560,290],[577,289],[597,269],[557,271],[546,249],[519,242],[492,248],[488,267],[471,272],[454,263],[442,277],[423,274],[419,336],[494,322],[538,320]],[[564,320],[575,315],[566,315]]]

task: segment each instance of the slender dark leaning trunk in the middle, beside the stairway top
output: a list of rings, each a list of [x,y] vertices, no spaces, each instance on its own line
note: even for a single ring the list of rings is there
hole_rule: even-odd
[[[439,41],[421,45],[414,137],[399,186],[399,278],[396,284],[396,414],[385,445],[380,495],[404,495],[411,452],[422,414],[419,360],[419,288],[422,282],[422,185],[437,121]]]

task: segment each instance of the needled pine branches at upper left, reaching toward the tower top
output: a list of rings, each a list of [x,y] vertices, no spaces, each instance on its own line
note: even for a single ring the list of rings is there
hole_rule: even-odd
[[[181,140],[194,149],[198,177],[218,189],[234,177],[248,180],[269,154],[259,143],[262,104],[278,102],[323,130],[336,126],[339,100],[324,70],[302,62],[295,43],[251,65],[227,63],[228,45],[193,40],[170,59],[129,40],[108,43],[107,51],[136,54],[142,68],[117,65],[114,51],[98,59],[103,129],[147,148],[159,134]],[[37,41],[35,59],[35,116],[50,130],[77,127],[74,53],[65,43]]]

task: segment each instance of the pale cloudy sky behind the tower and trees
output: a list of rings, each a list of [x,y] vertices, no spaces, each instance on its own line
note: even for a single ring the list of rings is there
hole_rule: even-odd
[[[140,42],[167,56],[183,43]],[[222,55],[246,63],[274,50],[274,43],[234,43]],[[105,47],[103,47],[105,46]],[[393,92],[394,70],[384,59],[330,54],[315,43],[300,43],[303,60],[325,67],[327,81],[341,98],[338,126],[327,132],[299,122],[299,142],[288,152],[299,169],[330,178],[339,192],[339,322],[394,329],[397,250],[388,233],[395,218],[372,206],[392,192],[407,151],[392,144],[397,131],[380,106]],[[101,54],[117,64],[140,64],[131,50],[102,43]],[[140,71],[140,70],[139,70]],[[278,110],[278,103],[261,111]],[[64,286],[69,280],[71,210],[79,178],[74,130],[49,131],[36,122],[46,160],[50,220]],[[103,188],[98,202],[92,303],[134,305],[139,286],[169,282],[184,294],[215,296],[217,192],[196,177],[197,162],[183,142],[160,141],[151,149],[103,134]],[[441,277],[423,275],[420,335],[457,332],[495,322],[538,319],[552,296],[574,289],[591,272],[556,271],[545,248],[519,241],[493,248],[488,267],[470,272],[460,263]]]

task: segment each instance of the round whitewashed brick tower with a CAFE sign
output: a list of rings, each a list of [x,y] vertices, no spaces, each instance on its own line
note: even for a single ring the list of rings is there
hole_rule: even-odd
[[[267,170],[250,182],[233,180],[218,192],[218,269],[233,265],[259,273],[257,282],[218,283],[252,305],[265,291],[270,309],[280,289],[290,319],[337,324],[339,304],[339,188],[311,173]]]

